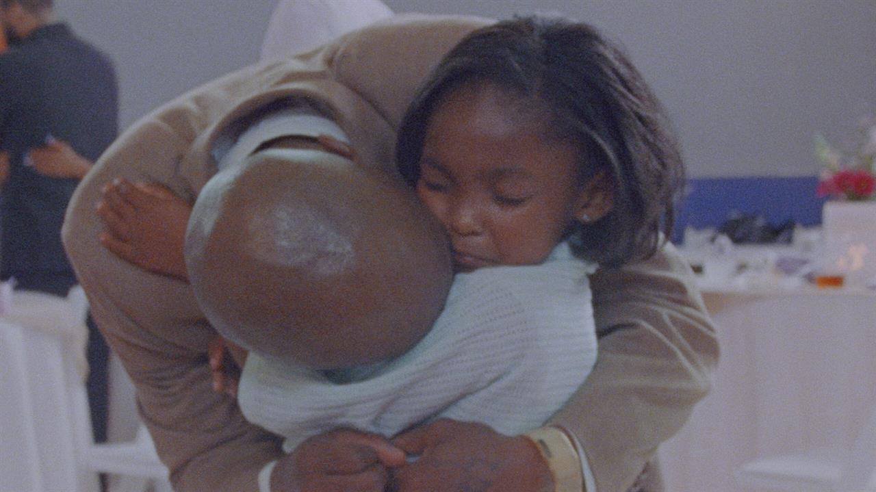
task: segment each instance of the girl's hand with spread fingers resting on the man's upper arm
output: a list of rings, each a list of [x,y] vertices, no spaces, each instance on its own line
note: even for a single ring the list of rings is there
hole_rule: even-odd
[[[115,179],[103,186],[97,214],[104,248],[138,267],[187,280],[183,245],[192,207],[164,186]]]

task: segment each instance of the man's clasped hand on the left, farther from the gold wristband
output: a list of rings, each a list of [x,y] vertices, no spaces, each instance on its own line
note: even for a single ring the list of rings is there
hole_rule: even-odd
[[[377,434],[338,429],[307,439],[280,458],[271,474],[274,492],[384,492],[389,467],[405,453]]]

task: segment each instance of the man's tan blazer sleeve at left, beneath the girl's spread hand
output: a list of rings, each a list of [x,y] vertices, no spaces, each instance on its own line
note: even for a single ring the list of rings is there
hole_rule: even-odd
[[[193,199],[213,174],[210,161],[188,162],[193,145],[260,83],[259,69],[247,68],[135,123],[82,180],[62,230],[91,314],[131,375],[140,415],[175,490],[257,492],[258,471],[279,456],[279,441],[247,423],[233,398],[211,390],[206,349],[215,331],[189,285],[102,249],[95,203],[117,177],[158,182]]]

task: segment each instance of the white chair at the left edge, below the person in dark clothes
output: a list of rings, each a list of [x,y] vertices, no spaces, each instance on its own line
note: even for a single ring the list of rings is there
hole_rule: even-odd
[[[96,492],[99,473],[118,475],[117,492],[171,490],[145,429],[127,443],[92,439],[87,311],[74,287],[67,299],[15,292],[0,317],[0,492]]]

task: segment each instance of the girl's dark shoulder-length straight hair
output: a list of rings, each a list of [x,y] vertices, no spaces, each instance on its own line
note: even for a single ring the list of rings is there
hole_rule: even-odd
[[[402,119],[396,159],[408,184],[420,178],[434,110],[454,90],[481,83],[540,105],[547,137],[577,144],[581,184],[599,171],[611,176],[611,212],[569,232],[576,255],[606,265],[653,255],[660,233],[672,229],[684,169],[665,110],[625,53],[590,25],[560,18],[515,18],[471,32]]]

